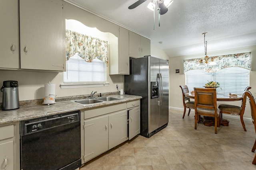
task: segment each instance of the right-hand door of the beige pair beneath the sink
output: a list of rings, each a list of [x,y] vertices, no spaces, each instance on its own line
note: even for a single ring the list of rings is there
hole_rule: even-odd
[[[109,145],[108,149],[127,140],[127,112],[126,110],[109,115]]]

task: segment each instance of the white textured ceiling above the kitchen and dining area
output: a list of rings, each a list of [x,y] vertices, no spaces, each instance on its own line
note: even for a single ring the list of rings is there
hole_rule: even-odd
[[[256,0],[174,0],[160,16],[137,0],[66,0],[151,39],[169,57],[256,45]],[[162,44],[158,42],[162,41]]]

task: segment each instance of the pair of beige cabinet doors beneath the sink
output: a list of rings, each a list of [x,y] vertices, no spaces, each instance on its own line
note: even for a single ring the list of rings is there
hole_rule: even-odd
[[[126,140],[126,110],[84,121],[84,162],[116,147]]]

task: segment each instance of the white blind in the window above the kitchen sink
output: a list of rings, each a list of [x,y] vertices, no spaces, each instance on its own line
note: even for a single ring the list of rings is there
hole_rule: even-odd
[[[107,68],[106,63],[93,59],[86,62],[77,53],[66,61],[66,72],[63,74],[64,83],[106,83]]]

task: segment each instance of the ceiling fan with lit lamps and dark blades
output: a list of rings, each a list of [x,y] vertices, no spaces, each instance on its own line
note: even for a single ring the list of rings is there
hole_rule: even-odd
[[[130,5],[128,9],[134,9],[146,0],[138,0],[134,4]],[[151,2],[148,4],[148,8],[152,11],[154,11],[154,8],[156,4],[158,5],[157,10],[159,10],[160,15],[165,14],[168,11],[168,7],[172,4],[173,0],[151,0]]]

